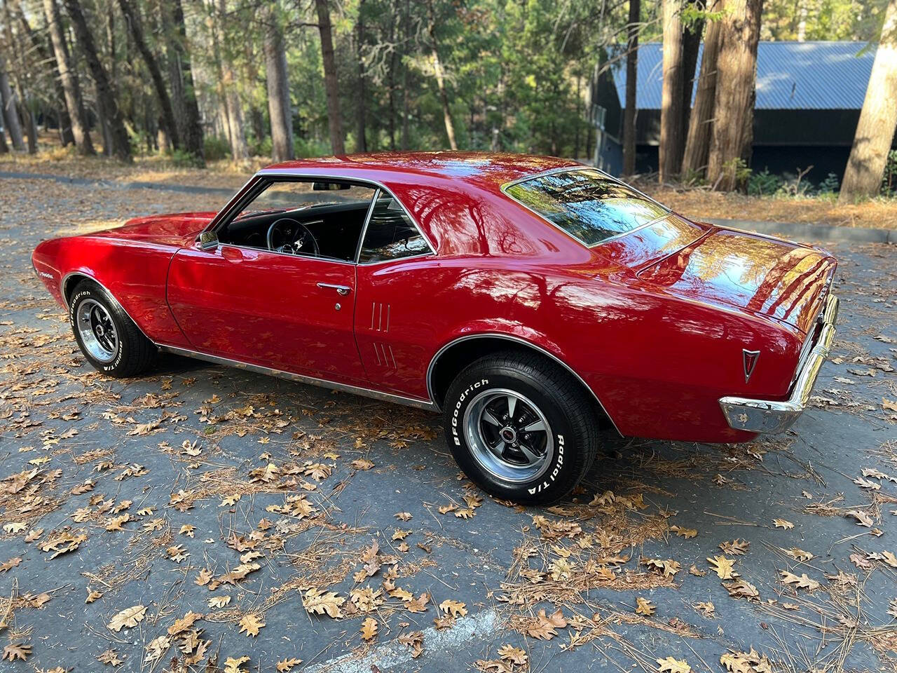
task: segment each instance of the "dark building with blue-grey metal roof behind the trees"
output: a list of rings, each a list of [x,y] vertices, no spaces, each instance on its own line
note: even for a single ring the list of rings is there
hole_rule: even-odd
[[[663,45],[639,48],[636,142],[639,170],[657,169]],[[752,168],[796,172],[813,165],[812,179],[844,169],[863,106],[875,45],[866,42],[760,42],[753,119]],[[700,73],[701,56],[695,76]],[[696,90],[697,84],[694,84]],[[593,101],[605,108],[606,148],[611,170],[623,140],[625,59],[602,75]],[[693,102],[693,92],[692,92]],[[615,146],[616,145],[616,146]],[[622,162],[622,153],[619,154]]]

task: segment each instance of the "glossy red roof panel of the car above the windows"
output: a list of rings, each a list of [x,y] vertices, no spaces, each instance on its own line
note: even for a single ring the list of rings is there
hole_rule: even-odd
[[[346,178],[379,179],[385,184],[407,182],[414,177],[452,179],[480,188],[501,188],[512,180],[581,163],[557,157],[480,152],[391,152],[346,154],[275,163],[265,171],[333,171]]]

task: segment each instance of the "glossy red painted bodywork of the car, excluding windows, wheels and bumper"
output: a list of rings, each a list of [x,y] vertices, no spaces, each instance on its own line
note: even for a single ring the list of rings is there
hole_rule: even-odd
[[[678,215],[588,249],[501,191],[510,180],[577,166],[407,153],[262,171],[388,188],[436,250],[422,257],[354,265],[199,249],[196,236],[226,217],[225,206],[218,215],[161,215],[48,240],[33,261],[63,303],[66,275],[95,278],[159,345],[439,405],[442,390],[431,390],[428,372],[444,346],[515,337],[510,346],[534,345],[575,371],[623,434],[752,439],[728,426],[718,398],[788,398],[835,260]],[[749,381],[743,350],[761,351]]]

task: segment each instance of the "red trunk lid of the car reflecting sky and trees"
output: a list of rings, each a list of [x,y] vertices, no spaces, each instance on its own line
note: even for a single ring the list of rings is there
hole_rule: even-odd
[[[778,319],[806,334],[836,266],[820,249],[706,225],[700,237],[637,273],[671,293]]]

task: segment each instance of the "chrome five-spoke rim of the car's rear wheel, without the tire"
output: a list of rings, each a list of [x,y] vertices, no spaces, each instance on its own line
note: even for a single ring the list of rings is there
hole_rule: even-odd
[[[473,398],[464,428],[474,458],[499,479],[526,482],[551,464],[551,425],[536,404],[514,390],[486,390]]]

